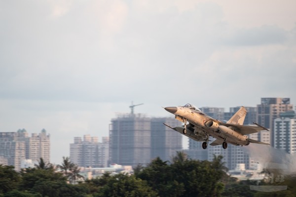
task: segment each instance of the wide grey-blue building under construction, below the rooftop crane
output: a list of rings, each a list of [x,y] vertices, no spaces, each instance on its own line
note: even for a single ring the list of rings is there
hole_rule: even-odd
[[[182,149],[182,135],[162,123],[174,126],[176,122],[174,118],[148,118],[143,114],[118,115],[110,125],[111,163],[135,166],[148,164],[157,156],[170,159]]]

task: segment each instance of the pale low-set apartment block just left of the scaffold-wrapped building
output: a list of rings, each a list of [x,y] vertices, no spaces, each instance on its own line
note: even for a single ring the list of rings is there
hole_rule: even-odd
[[[83,167],[107,167],[109,159],[109,137],[103,137],[102,142],[98,137],[84,135],[74,137],[74,143],[70,144],[70,160],[74,164]]]

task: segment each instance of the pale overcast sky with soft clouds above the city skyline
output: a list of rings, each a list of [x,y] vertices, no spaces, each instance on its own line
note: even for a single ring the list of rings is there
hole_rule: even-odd
[[[0,131],[43,128],[51,162],[116,113],[296,104],[295,0],[0,0]]]

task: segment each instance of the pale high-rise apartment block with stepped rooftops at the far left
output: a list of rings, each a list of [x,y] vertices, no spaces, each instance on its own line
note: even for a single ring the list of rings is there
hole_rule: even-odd
[[[28,136],[26,130],[17,132],[0,132],[0,157],[7,160],[8,165],[13,165],[20,170],[23,160],[31,159],[34,162],[40,158],[45,163],[49,162],[50,141],[49,135],[42,130],[39,134]]]

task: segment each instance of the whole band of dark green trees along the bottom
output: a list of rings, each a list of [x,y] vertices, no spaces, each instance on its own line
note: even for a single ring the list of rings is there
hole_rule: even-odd
[[[279,192],[263,193],[250,190],[251,181],[238,181],[228,176],[222,156],[213,162],[188,160],[177,152],[173,163],[155,158],[148,166],[138,165],[135,175],[110,173],[69,184],[80,178],[80,169],[63,157],[57,172],[40,158],[36,168],[16,172],[13,166],[0,165],[0,197],[295,197],[296,176],[285,175],[284,182],[260,185],[287,185]],[[268,172],[268,171],[267,171]],[[270,173],[270,172],[268,172]],[[280,172],[274,173],[276,177]],[[276,174],[277,173],[277,174]]]

